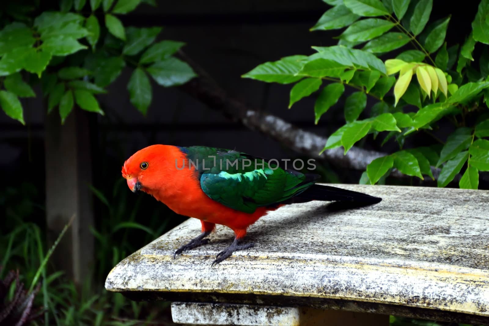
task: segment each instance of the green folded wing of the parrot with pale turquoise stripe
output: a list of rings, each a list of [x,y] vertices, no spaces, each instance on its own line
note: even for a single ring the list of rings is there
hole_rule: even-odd
[[[199,172],[207,196],[245,213],[298,195],[315,180],[243,152],[202,146],[180,149]]]

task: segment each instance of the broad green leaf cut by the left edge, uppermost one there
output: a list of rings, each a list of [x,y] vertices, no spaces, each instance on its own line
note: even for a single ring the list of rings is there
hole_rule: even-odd
[[[0,55],[18,47],[30,47],[35,42],[29,27],[22,22],[13,22],[0,31]]]

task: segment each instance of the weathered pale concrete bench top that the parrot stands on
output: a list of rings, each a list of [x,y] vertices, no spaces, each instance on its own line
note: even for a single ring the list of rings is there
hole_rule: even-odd
[[[251,226],[254,248],[214,267],[233,239],[225,227],[173,260],[200,233],[192,218],[121,261],[106,288],[139,298],[250,298],[489,324],[489,192],[337,186],[384,200],[342,211],[318,201],[282,207]]]

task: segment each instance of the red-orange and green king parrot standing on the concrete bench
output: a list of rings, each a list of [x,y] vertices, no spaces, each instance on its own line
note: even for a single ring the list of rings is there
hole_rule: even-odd
[[[174,254],[206,244],[222,224],[234,231],[233,243],[212,264],[236,250],[253,247],[242,243],[247,228],[282,205],[311,200],[375,204],[381,198],[355,191],[317,185],[317,174],[284,170],[277,160],[213,147],[152,145],[124,162],[122,176],[133,191],[143,191],[177,214],[200,219],[202,233]]]

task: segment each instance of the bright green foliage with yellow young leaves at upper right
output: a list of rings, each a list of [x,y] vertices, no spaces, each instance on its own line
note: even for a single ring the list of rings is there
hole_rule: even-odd
[[[489,141],[484,139],[489,136],[487,0],[480,1],[472,32],[462,46],[445,42],[450,17],[428,24],[432,0],[324,2],[332,7],[311,30],[345,28],[337,45],[312,46],[316,51],[312,55],[267,62],[243,77],[296,83],[289,107],[327,82],[314,105],[316,124],[345,96],[347,86],[354,88],[344,102],[345,125],[330,135],[323,151],[342,146],[346,154],[361,139],[371,135],[377,139],[380,134],[382,146],[395,139],[399,147],[398,152],[372,161],[362,175],[363,183],[382,181],[394,169],[434,179],[432,168],[441,167],[439,187],[464,169],[460,188],[477,189],[479,172],[489,171]],[[478,65],[472,55],[475,46],[482,48]],[[369,117],[364,112],[367,97],[376,101]],[[445,122],[453,128],[445,141],[440,140],[442,146],[403,148],[406,138],[415,134],[438,139],[432,130]]]

